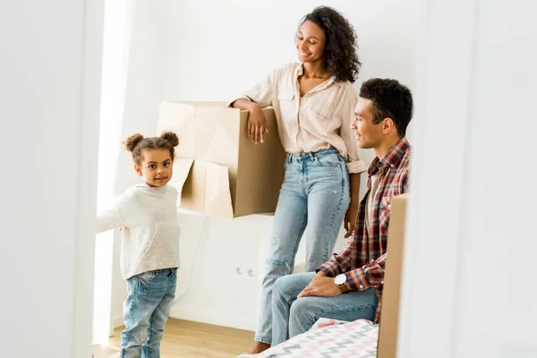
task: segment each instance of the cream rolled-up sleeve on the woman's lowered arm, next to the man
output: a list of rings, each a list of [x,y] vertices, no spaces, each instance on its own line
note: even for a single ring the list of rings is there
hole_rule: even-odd
[[[358,142],[354,137],[354,132],[351,129],[351,125],[354,121],[354,107],[358,103],[358,94],[349,86],[345,90],[345,100],[343,101],[340,108],[343,111],[341,115],[344,116],[343,125],[341,127],[341,138],[345,141],[345,146],[347,149],[347,170],[350,174],[362,173],[367,170],[365,162],[362,160],[360,155],[360,148],[358,147]]]

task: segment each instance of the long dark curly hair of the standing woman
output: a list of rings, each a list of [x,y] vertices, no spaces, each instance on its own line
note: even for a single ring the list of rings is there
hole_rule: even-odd
[[[340,13],[328,6],[318,6],[303,17],[300,26],[311,21],[320,27],[327,38],[324,64],[336,81],[354,83],[362,64],[358,59],[356,31]],[[300,28],[299,26],[299,28]]]

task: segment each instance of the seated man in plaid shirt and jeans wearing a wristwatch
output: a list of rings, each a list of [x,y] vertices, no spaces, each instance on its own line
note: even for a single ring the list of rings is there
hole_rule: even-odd
[[[354,112],[358,145],[376,154],[354,236],[317,273],[278,278],[272,297],[272,345],[309,330],[320,317],[379,321],[390,201],[408,188],[410,145],[405,132],[413,115],[412,93],[398,81],[371,79],[362,84]]]

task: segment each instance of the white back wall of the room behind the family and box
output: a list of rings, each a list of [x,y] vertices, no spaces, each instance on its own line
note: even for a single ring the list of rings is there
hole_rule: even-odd
[[[124,136],[155,133],[161,99],[227,100],[274,67],[296,61],[294,33],[298,22],[321,4],[305,0],[137,3],[140,8],[132,31]],[[411,89],[415,87],[421,1],[322,4],[344,13],[358,32],[363,67],[357,90],[371,77],[392,77]],[[370,162],[372,153],[364,152],[364,158]],[[117,191],[136,181],[130,159],[120,156]],[[182,268],[177,295],[183,297],[172,315],[253,329],[260,268],[272,218],[252,216],[228,221],[181,214],[179,220]],[[344,244],[340,236],[336,250]],[[303,260],[303,249],[301,246],[299,261]],[[253,268],[253,277],[236,276],[237,266]],[[120,324],[125,291],[117,272],[112,314]]]

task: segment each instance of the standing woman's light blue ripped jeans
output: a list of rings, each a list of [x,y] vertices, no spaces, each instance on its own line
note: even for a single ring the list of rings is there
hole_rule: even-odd
[[[287,154],[261,286],[256,341],[272,342],[272,286],[278,277],[293,273],[306,226],[305,269],[313,271],[332,254],[350,198],[345,159],[337,149]]]

